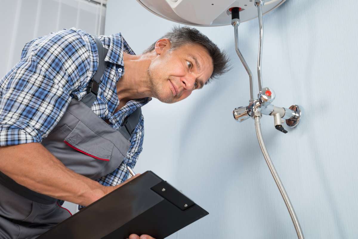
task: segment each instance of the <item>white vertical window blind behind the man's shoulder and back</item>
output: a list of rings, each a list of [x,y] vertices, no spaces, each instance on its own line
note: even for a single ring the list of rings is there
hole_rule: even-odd
[[[0,79],[19,61],[26,42],[63,28],[105,30],[107,0],[0,0]]]

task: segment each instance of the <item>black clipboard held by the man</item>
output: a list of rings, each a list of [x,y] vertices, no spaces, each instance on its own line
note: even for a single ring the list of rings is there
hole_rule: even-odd
[[[132,233],[163,239],[208,214],[146,171],[37,239],[126,239]]]

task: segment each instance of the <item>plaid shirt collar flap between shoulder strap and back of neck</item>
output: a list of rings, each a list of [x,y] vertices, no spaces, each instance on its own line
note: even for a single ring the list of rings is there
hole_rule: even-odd
[[[123,63],[123,51],[135,55],[132,48],[128,45],[121,33],[110,35],[105,38],[105,46],[108,48],[108,52],[105,58],[106,62],[111,62],[124,67]]]

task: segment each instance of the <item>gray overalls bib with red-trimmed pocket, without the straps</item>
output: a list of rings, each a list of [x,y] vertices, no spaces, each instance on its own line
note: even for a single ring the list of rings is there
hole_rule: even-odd
[[[96,117],[91,117],[96,119],[96,127],[90,128],[86,122],[66,112],[59,126],[42,141],[42,145],[66,167],[91,179],[113,172],[130,147],[130,142],[120,132]]]

